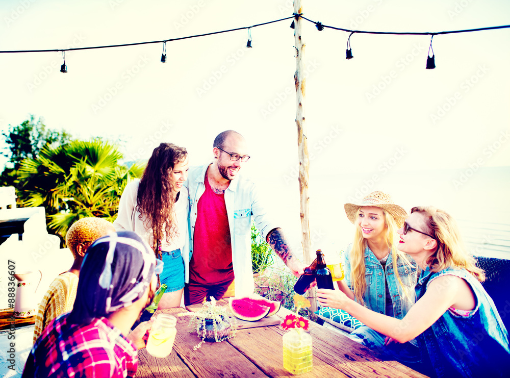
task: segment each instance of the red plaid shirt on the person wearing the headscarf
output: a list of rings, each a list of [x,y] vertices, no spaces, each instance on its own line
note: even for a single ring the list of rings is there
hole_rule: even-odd
[[[69,313],[49,323],[32,348],[22,377],[134,377],[137,350],[110,321],[67,324]]]

